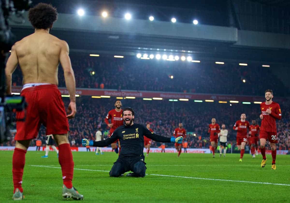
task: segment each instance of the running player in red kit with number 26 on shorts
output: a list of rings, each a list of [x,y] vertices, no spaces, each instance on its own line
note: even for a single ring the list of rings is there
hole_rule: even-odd
[[[237,131],[237,146],[238,150],[241,150],[240,162],[243,161],[245,153],[245,145],[247,143],[247,129],[250,130],[250,123],[246,121],[246,114],[241,114],[241,120],[238,120],[233,126],[233,130]]]

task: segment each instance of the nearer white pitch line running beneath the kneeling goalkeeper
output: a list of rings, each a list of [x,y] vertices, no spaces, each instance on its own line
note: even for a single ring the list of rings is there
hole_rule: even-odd
[[[29,166],[61,169],[61,167],[42,166],[42,165],[29,165]],[[76,169],[76,168],[74,168],[74,170],[110,172],[110,171],[103,171],[103,170]],[[190,179],[198,179],[198,180],[217,180],[217,181],[228,181],[228,182],[244,182],[244,183],[255,183],[255,184],[268,184],[268,185],[290,186],[290,184],[271,183],[271,182],[251,182],[251,181],[244,181],[244,180],[223,180],[223,179],[213,179],[213,178],[195,178],[195,177],[187,177],[187,176],[170,176],[170,175],[161,175],[161,174],[146,174],[146,175],[151,175],[151,176],[165,176],[165,177],[173,177],[173,178],[190,178]]]

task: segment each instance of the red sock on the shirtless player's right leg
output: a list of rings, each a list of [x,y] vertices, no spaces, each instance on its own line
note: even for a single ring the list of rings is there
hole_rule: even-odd
[[[73,187],[73,154],[70,150],[70,144],[61,144],[58,146],[59,150],[59,164],[62,171],[62,179],[64,180],[64,185],[67,188]]]

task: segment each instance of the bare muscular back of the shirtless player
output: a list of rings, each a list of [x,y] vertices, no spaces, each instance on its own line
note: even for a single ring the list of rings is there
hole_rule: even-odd
[[[45,31],[35,32],[15,44],[23,84],[58,85],[58,65],[64,41]]]

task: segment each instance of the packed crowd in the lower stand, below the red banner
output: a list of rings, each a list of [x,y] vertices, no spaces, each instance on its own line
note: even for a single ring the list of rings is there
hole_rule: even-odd
[[[72,146],[81,146],[81,139],[94,139],[99,127],[103,129],[105,138],[108,136],[108,126],[104,119],[109,110],[113,109],[114,99],[93,99],[91,97],[80,97],[77,101],[77,115],[69,120],[70,124],[70,143]],[[68,99],[65,98],[67,106]],[[277,120],[278,149],[288,150],[290,148],[290,107],[289,101],[280,102],[282,109],[282,120]],[[189,102],[169,102],[169,101],[143,101],[141,99],[123,99],[123,107],[131,106],[135,109],[135,121],[146,125],[150,123],[155,133],[172,136],[178,123],[182,122],[187,131],[188,147],[190,148],[209,148],[210,141],[208,125],[214,117],[221,126],[226,125],[229,130],[228,142],[236,145],[236,131],[233,130],[235,121],[240,120],[241,113],[246,113],[250,124],[251,120],[256,120],[260,125],[260,106],[259,104],[219,104],[219,103],[196,103]],[[42,126],[39,137],[45,144],[45,128]],[[11,137],[7,145],[14,145],[15,141]],[[161,143],[152,142],[152,147],[159,147]],[[32,142],[31,145],[35,145]],[[171,143],[166,143],[166,147],[174,147]],[[270,146],[267,145],[268,149]]]

